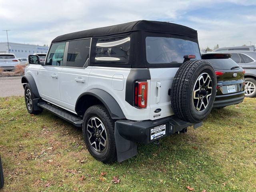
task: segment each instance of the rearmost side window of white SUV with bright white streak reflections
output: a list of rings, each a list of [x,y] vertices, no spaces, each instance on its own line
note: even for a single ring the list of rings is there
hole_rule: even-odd
[[[99,39],[96,44],[95,63],[128,63],[130,37]]]

